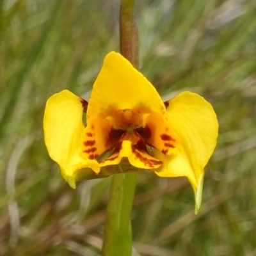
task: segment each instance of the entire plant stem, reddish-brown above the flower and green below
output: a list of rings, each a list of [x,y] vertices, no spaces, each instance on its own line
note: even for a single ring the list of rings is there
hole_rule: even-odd
[[[133,9],[134,0],[121,0],[120,52],[138,68],[138,30]],[[136,173],[120,173],[112,177],[102,246],[103,256],[132,255],[131,211],[136,179]]]

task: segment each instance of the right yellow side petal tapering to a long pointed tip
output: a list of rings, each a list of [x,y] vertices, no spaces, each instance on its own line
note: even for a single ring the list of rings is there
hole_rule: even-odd
[[[180,93],[169,100],[168,105],[169,123],[179,136],[180,146],[170,156],[154,150],[154,156],[163,160],[156,174],[188,177],[195,191],[197,212],[202,198],[204,167],[216,146],[218,120],[211,104],[196,93]]]

